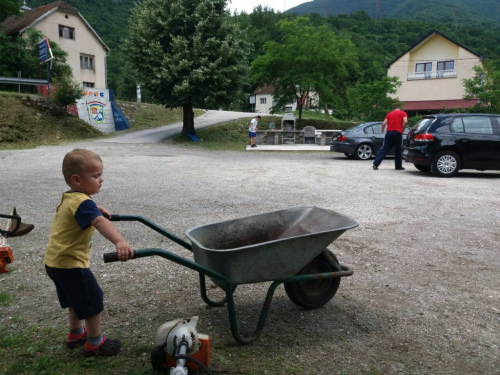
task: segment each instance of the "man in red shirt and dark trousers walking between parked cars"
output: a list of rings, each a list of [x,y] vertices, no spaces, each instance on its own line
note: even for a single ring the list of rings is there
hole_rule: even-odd
[[[396,165],[396,170],[401,171],[404,169],[402,165],[401,145],[403,143],[403,132],[406,125],[408,125],[408,115],[405,111],[396,108],[385,116],[385,120],[382,123],[382,133],[386,125],[387,134],[385,135],[384,145],[377,152],[377,156],[373,162],[373,169],[378,169],[382,160],[384,160],[389,151],[394,147],[394,164]]]

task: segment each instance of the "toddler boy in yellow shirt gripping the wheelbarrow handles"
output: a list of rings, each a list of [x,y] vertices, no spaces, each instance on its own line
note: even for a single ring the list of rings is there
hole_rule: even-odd
[[[63,193],[57,207],[44,263],[61,307],[69,309],[66,345],[70,348],[84,345],[87,356],[115,355],[121,349],[121,342],[101,334],[103,293],[89,269],[94,228],[116,246],[119,260],[127,261],[133,250],[106,218],[110,213],[90,197],[99,192],[103,182],[99,155],[74,149],[64,157],[62,172],[70,190]]]

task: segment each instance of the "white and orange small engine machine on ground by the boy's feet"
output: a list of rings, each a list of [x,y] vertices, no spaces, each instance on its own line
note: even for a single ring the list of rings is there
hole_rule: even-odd
[[[157,372],[170,375],[188,375],[203,369],[210,375],[210,338],[198,333],[196,325],[199,318],[176,319],[164,323],[156,331],[156,346],[151,351],[151,364]]]

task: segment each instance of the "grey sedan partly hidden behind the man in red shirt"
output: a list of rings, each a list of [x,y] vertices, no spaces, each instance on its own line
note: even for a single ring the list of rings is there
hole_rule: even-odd
[[[345,156],[357,160],[368,160],[375,157],[384,144],[385,132],[382,133],[382,122],[366,122],[347,129],[338,136],[333,136],[330,151],[343,152]],[[404,131],[403,140],[409,129]],[[394,149],[389,152],[394,155]]]

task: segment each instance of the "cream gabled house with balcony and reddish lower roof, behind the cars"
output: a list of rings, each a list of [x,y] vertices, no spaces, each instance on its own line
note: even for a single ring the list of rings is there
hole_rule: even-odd
[[[469,108],[463,80],[485,58],[437,30],[431,31],[387,66],[387,74],[402,82],[394,97],[412,114],[443,108]]]

